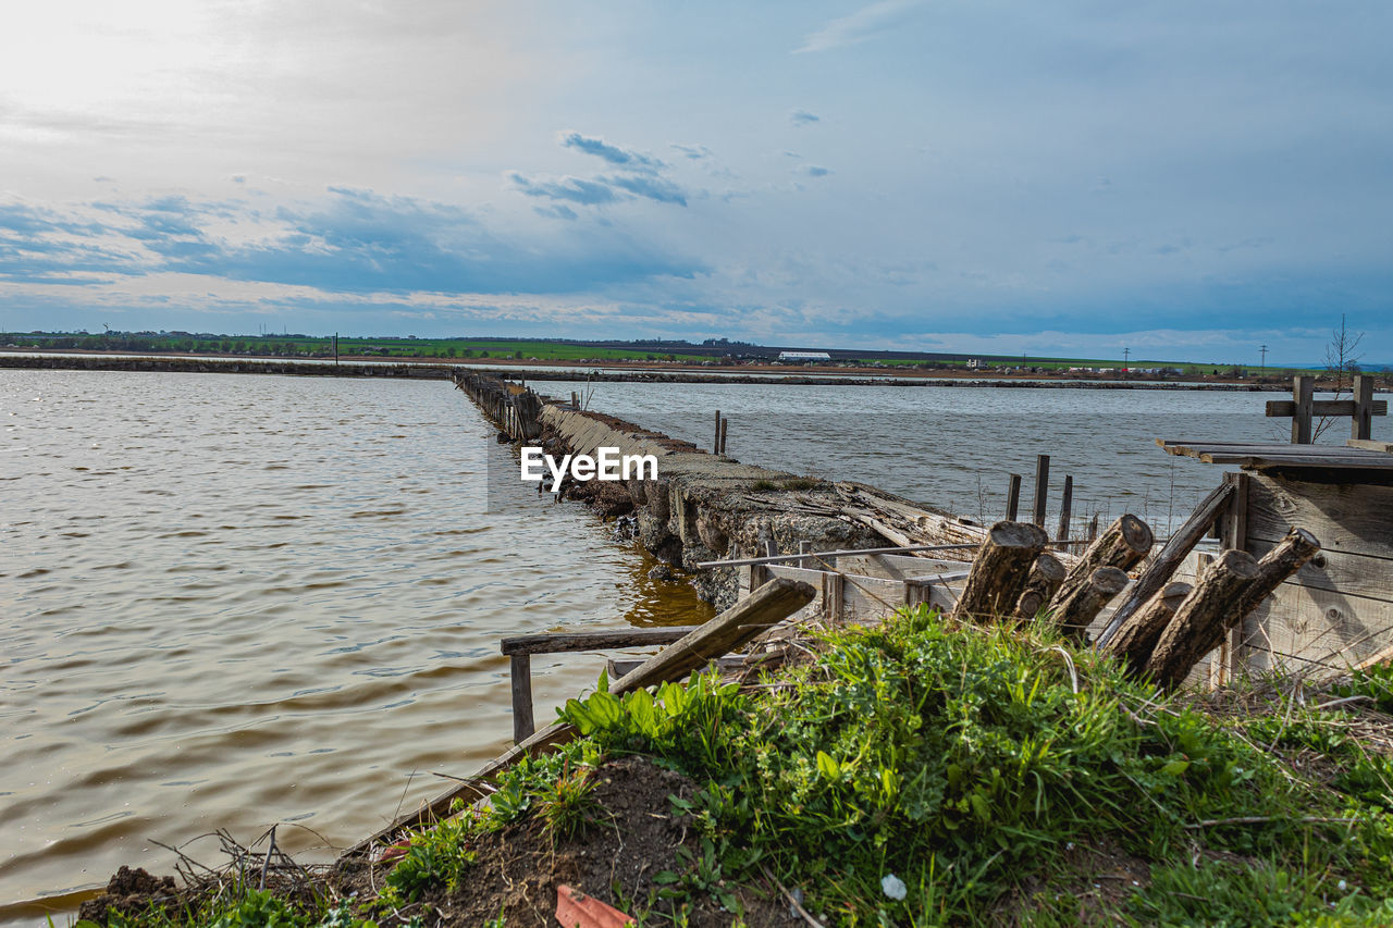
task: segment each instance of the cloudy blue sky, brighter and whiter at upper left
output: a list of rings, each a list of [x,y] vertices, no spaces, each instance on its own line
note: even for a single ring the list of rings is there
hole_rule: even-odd
[[[1393,362],[1385,0],[6,20],[6,330]]]

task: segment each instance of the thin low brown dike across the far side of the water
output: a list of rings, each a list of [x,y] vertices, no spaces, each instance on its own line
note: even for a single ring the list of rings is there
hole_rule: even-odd
[[[552,369],[529,368],[546,364]],[[401,358],[383,361],[371,357],[330,359],[283,359],[242,355],[163,357],[111,354],[103,351],[52,351],[42,355],[14,350],[0,351],[0,368],[38,371],[130,371],[146,373],[260,373],[281,376],[347,376],[449,380],[456,371],[504,366],[504,376],[527,380],[593,380],[614,383],[733,383],[784,386],[939,386],[939,387],[1036,387],[1077,390],[1223,390],[1240,393],[1286,393],[1287,382],[1254,383],[1223,378],[1205,380],[1112,380],[1085,379],[1077,375],[971,375],[946,372],[905,372],[886,368],[873,375],[848,373],[846,368],[787,368],[779,365],[742,365],[703,368],[660,362],[518,361],[489,358],[476,361],[439,361]],[[561,368],[561,369],[556,369]],[[1319,389],[1319,387],[1318,387]]]

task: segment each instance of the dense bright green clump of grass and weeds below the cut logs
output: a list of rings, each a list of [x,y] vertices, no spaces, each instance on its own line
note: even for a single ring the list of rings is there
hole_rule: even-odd
[[[1100,837],[1184,861],[1176,879],[1213,879],[1191,863],[1205,854],[1243,856],[1289,881],[1280,899],[1298,913],[1334,911],[1357,875],[1387,893],[1382,811],[1351,812],[1358,797],[1293,778],[1109,659],[922,608],[823,644],[758,697],[696,676],[563,715],[602,750],[706,783],[691,808],[727,878],[768,867],[834,924],[993,924],[999,900],[1066,883],[1066,849]],[[1173,924],[1212,924],[1185,896],[1162,897]]]

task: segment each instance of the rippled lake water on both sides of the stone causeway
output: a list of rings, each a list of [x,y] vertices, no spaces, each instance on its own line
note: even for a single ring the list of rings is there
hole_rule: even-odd
[[[1158,531],[1220,468],[1155,438],[1286,428],[1270,393],[540,386],[703,447],[719,408],[740,460],[986,520],[1011,471],[1024,510],[1048,453],[1052,507],[1071,474],[1075,514]],[[444,382],[0,371],[0,922],[123,863],[167,872],[152,840],[286,822],[323,858],[507,744],[500,637],[709,614],[507,479],[513,451]],[[602,663],[535,660],[538,718]]]

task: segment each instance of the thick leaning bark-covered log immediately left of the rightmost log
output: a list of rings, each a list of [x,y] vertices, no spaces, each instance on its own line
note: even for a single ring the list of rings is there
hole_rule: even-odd
[[[1224,631],[1243,620],[1236,606],[1256,577],[1258,562],[1248,552],[1226,550],[1215,557],[1160,633],[1144,673],[1163,688],[1180,686],[1190,669],[1219,647]]]

